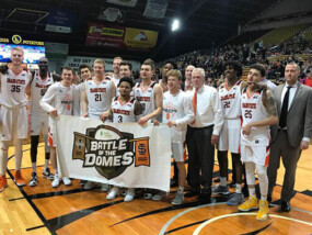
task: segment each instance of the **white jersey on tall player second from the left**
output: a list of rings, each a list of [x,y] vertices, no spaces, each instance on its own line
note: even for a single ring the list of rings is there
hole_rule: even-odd
[[[48,74],[48,77],[43,81],[38,71],[35,72],[32,81],[32,114],[47,114],[39,102],[53,83],[54,80],[51,74]]]

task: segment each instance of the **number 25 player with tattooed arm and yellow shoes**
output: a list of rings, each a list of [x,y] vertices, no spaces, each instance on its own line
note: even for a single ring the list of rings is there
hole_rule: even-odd
[[[264,76],[263,66],[252,65],[247,76],[249,86],[242,94],[241,159],[245,164],[250,198],[239,210],[258,208],[256,219],[259,221],[266,221],[268,216],[269,126],[278,122],[273,94],[266,85],[261,83]],[[259,181],[259,203],[255,192],[255,169]]]

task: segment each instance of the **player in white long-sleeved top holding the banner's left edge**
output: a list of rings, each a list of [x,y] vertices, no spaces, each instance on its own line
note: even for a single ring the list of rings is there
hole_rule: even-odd
[[[43,99],[41,100],[42,108],[49,113],[49,145],[50,145],[50,158],[54,168],[55,177],[51,182],[51,187],[56,188],[62,180],[65,186],[70,186],[71,180],[67,177],[60,179],[57,169],[56,158],[56,126],[55,119],[58,115],[76,115],[78,114],[78,108],[74,107],[74,87],[72,86],[73,70],[70,67],[63,67],[61,71],[62,80],[56,82],[49,87]]]

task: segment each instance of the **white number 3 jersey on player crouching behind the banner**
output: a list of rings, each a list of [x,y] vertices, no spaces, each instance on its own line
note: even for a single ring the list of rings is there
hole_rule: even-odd
[[[135,103],[137,100],[130,98],[127,103],[122,104],[119,97],[115,97],[112,102],[113,122],[136,122]]]

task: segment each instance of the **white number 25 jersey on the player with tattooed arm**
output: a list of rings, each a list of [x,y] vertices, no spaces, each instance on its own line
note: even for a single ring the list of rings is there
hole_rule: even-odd
[[[268,118],[268,112],[262,102],[262,96],[263,91],[255,92],[252,97],[249,97],[246,89],[244,90],[242,94],[243,126],[247,123]],[[241,135],[241,142],[247,146],[268,146],[269,125],[252,127],[251,134]]]

